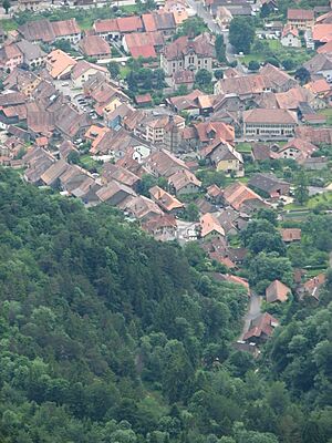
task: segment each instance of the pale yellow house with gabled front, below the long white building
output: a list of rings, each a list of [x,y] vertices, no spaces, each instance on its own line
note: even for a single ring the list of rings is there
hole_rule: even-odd
[[[217,171],[222,171],[226,175],[243,177],[242,155],[229,143],[222,140],[215,141],[211,145],[206,146],[203,152],[206,153],[205,157],[209,159]]]

